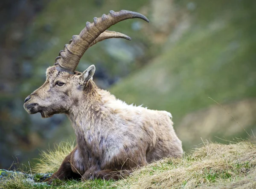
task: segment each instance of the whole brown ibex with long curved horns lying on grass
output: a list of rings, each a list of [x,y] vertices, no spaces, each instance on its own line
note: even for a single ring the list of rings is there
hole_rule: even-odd
[[[128,105],[99,89],[93,82],[94,65],[83,73],[75,71],[93,44],[107,38],[131,40],[127,35],[106,30],[129,18],[149,22],[144,15],[126,10],[110,11],[94,17],[93,23],[87,22],[61,50],[54,66],[47,69],[45,83],[25,99],[24,108],[30,114],[40,112],[46,118],[65,113],[76,133],[76,147],[49,181],[78,177],[119,179],[120,172],[128,174],[154,160],[183,154],[171,113]]]

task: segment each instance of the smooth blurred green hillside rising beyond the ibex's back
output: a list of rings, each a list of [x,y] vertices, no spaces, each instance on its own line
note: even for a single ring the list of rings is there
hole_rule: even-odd
[[[220,103],[255,97],[255,9],[255,1],[196,1],[191,26],[180,40],[166,42],[151,64],[111,92],[129,103],[170,111],[176,130],[187,113],[214,104],[208,96]]]

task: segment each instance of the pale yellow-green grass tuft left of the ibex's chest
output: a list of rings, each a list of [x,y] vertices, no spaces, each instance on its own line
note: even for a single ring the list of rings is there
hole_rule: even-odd
[[[74,142],[61,142],[53,149],[41,151],[38,163],[32,169],[35,173],[52,173],[58,170],[64,158],[73,150]]]

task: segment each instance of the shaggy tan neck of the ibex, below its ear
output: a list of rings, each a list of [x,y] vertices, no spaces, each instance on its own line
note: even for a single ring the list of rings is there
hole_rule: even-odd
[[[103,123],[110,122],[111,111],[106,108],[103,99],[108,94],[91,81],[89,86],[85,87],[79,102],[76,103],[77,106],[73,106],[68,113],[79,149],[91,148],[91,145],[101,139],[101,134],[107,131],[108,124]]]

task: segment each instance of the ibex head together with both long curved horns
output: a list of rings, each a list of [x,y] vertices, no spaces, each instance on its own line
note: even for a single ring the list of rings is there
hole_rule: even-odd
[[[54,66],[47,69],[45,83],[25,99],[26,111],[30,114],[40,112],[42,117],[49,117],[55,113],[66,113],[71,105],[79,103],[78,100],[84,90],[90,90],[88,84],[92,82],[95,72],[94,65],[88,67],[83,73],[75,71],[81,57],[89,47],[104,39],[131,40],[127,35],[106,30],[129,18],[141,18],[148,22],[148,19],[140,13],[126,10],[110,11],[108,15],[94,17],[93,23],[87,22],[80,34],[73,35],[70,44],[66,44],[64,50],[60,51]]]

